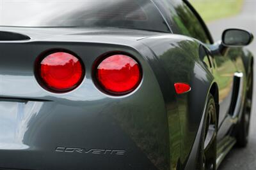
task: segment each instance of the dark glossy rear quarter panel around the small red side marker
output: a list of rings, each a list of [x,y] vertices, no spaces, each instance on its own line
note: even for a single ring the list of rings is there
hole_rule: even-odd
[[[200,136],[198,127],[214,77],[202,62],[204,56],[200,55],[198,41],[177,35],[141,41],[155,57],[148,62],[156,74],[166,104],[172,168],[184,168],[188,161],[193,160],[189,167],[193,169],[198,153],[191,153],[191,150],[200,146],[195,139]],[[191,92],[175,94],[175,82],[189,83]]]

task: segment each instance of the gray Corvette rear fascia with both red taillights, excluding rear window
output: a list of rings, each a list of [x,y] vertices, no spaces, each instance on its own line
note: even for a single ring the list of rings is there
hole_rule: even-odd
[[[148,48],[136,36],[118,36],[120,29],[116,37],[95,29],[51,29],[59,32],[54,36],[44,30],[5,27],[31,39],[0,42],[0,169],[168,167],[166,110]],[[116,55],[126,58],[106,60]],[[104,72],[116,62],[137,69],[119,73],[125,69],[117,64]],[[68,70],[79,78],[68,77]],[[109,74],[120,85],[132,84],[120,89]],[[104,78],[116,83],[114,89]]]

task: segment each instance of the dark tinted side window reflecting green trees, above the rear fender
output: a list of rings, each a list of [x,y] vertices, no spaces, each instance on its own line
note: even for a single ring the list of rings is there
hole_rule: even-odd
[[[203,43],[210,42],[198,18],[181,0],[154,1],[166,16],[173,33],[191,36]]]

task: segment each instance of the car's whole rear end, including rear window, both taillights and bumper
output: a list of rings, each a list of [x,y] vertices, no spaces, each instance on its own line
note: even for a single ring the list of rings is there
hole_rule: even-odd
[[[0,25],[0,169],[170,168],[154,3],[0,0]]]

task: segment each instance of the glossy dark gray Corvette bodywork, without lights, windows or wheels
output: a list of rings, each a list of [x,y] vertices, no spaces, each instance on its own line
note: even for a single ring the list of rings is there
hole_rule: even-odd
[[[225,75],[216,62],[226,57],[223,64],[231,64],[234,72],[244,75],[249,69],[244,66],[252,63],[252,54],[241,48],[223,54],[218,51],[220,44],[205,45],[168,33],[111,28],[1,29],[31,38],[0,41],[3,169],[196,167],[200,145],[196,139],[201,135],[205,100],[213,87],[220,90],[218,78]],[[60,48],[76,53],[86,68],[83,83],[66,94],[44,90],[35,78],[38,56]],[[143,69],[140,87],[126,96],[108,96],[93,83],[95,60],[113,51],[131,53]],[[207,54],[212,67],[204,63]],[[191,92],[178,96],[175,82],[189,83]],[[220,96],[221,91],[217,101]],[[230,96],[222,102],[230,103]],[[239,117],[230,117],[229,108],[217,104],[221,141]]]

